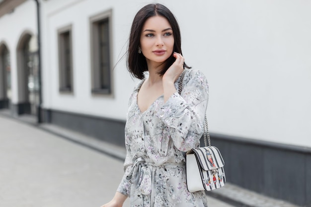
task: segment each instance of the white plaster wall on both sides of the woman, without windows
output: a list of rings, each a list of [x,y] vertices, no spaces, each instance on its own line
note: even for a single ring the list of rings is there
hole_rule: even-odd
[[[126,51],[134,15],[149,2],[154,1],[41,1],[43,107],[125,120],[137,80],[131,79],[122,59],[113,70],[114,96],[91,95],[89,17],[112,9],[116,64]],[[186,63],[202,70],[209,80],[211,132],[311,147],[310,1],[159,2],[180,23]],[[18,25],[0,30],[0,41],[9,45],[14,60],[12,70],[19,35],[26,27],[35,31],[34,9],[29,0],[0,18],[0,28],[6,21]],[[13,18],[17,11],[22,19]],[[73,26],[73,95],[58,91],[57,30],[69,24]],[[16,76],[13,71],[12,76]]]

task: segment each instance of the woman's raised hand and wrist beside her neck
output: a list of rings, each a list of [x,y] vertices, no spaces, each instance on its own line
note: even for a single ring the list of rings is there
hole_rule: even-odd
[[[173,56],[176,58],[176,61],[166,70],[162,77],[164,102],[166,102],[169,97],[176,92],[174,82],[184,69],[184,58],[182,55],[174,53]]]

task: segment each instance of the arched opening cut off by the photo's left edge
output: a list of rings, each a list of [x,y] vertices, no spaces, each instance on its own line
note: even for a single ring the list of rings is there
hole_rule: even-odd
[[[9,108],[11,100],[10,54],[4,43],[0,43],[0,109]]]

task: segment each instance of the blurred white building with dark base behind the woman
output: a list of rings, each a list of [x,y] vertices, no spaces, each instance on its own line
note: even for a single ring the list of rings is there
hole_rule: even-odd
[[[176,16],[228,182],[311,206],[310,0],[0,0],[0,112],[124,146],[136,12]],[[1,136],[1,134],[0,134]]]

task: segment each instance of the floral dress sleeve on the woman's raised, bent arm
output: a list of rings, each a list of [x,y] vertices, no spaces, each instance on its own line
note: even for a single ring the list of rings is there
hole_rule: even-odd
[[[156,116],[169,129],[175,147],[188,151],[203,135],[209,89],[205,75],[192,69],[185,73],[182,87],[181,95],[171,95]]]

